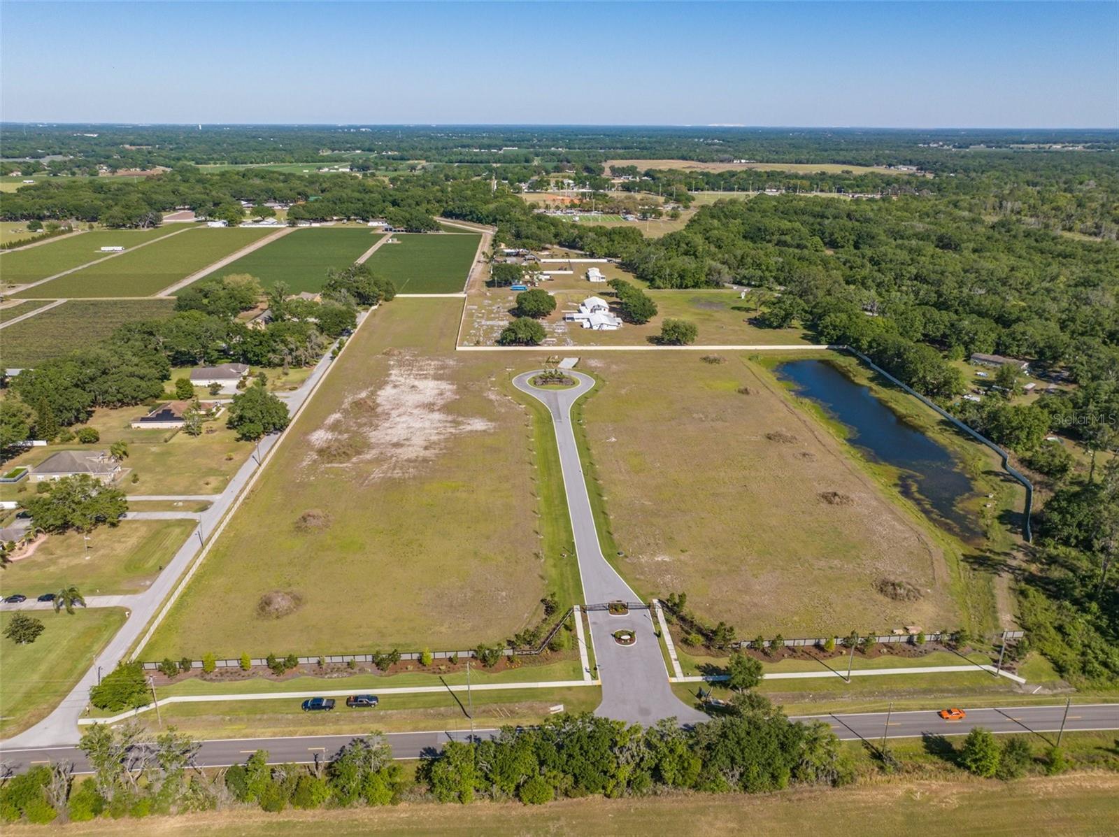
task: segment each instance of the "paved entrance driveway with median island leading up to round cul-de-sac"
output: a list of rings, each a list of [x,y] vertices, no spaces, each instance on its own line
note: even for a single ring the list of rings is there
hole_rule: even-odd
[[[594,386],[594,378],[575,372],[570,374],[579,384],[571,389],[537,389],[529,383],[536,374],[518,375],[513,383],[521,392],[540,401],[552,413],[584,601],[589,604],[639,602],[641,600],[637,593],[602,555],[591,499],[583,478],[583,465],[571,426],[571,406]],[[650,611],[634,609],[621,617],[605,611],[590,611],[586,615],[591,623],[598,675],[602,680],[602,704],[595,711],[596,714],[641,724],[653,724],[666,717],[677,717],[684,723],[705,718],[702,713],[684,705],[673,693]],[[622,628],[634,632],[634,645],[620,646],[614,641],[614,631]]]

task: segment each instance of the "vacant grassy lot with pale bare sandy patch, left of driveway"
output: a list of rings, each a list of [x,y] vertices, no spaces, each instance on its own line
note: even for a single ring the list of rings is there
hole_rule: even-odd
[[[144,659],[462,649],[540,619],[521,364],[455,356],[460,310],[398,298],[370,314]]]

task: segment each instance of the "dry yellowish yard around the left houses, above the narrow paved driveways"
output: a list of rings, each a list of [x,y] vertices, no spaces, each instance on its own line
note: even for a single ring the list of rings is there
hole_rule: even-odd
[[[2,336],[3,332],[0,332]],[[147,412],[143,405],[101,408],[87,422],[101,434],[101,440],[93,448],[101,450],[113,442],[128,442],[129,457],[123,463],[128,470],[122,476],[122,487],[128,493],[218,493],[253,452],[250,442],[238,442],[236,432],[225,426],[224,415],[207,422],[206,432],[200,436],[172,430],[133,430],[129,426],[131,420]],[[86,450],[90,446],[84,445]],[[32,448],[10,460],[10,464],[34,465],[60,450],[79,448],[83,445],[77,443]],[[0,497],[18,499],[19,496],[13,493],[16,489],[16,486],[0,486]]]

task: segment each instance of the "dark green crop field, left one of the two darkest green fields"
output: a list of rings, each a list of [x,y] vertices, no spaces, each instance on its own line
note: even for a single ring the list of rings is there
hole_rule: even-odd
[[[327,267],[352,264],[382,235],[357,227],[297,229],[226,265],[217,275],[248,273],[265,289],[284,282],[291,293],[321,291]]]

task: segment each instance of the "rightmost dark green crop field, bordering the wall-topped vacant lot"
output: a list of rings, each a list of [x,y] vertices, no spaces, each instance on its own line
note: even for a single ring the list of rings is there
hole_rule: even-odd
[[[481,236],[394,233],[393,237],[399,244],[383,244],[366,264],[391,279],[397,293],[459,293],[466,288]]]

